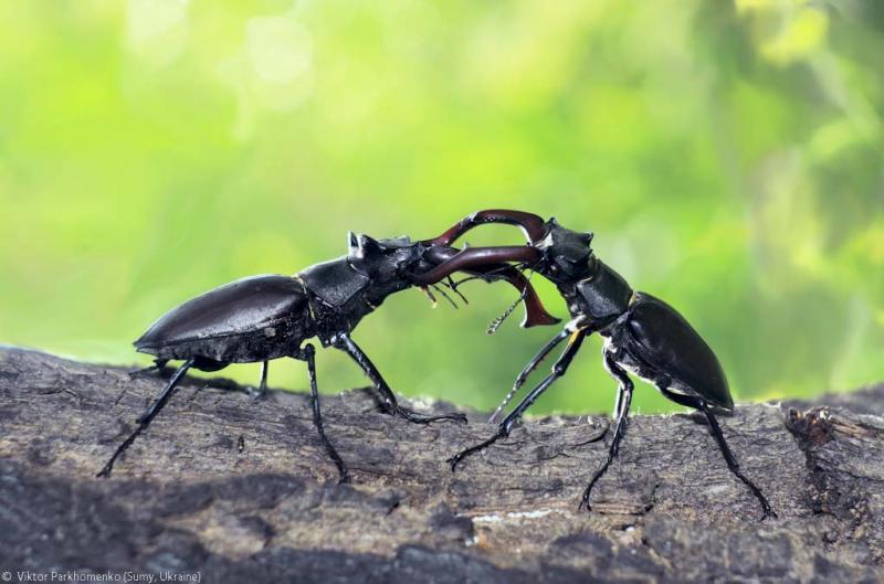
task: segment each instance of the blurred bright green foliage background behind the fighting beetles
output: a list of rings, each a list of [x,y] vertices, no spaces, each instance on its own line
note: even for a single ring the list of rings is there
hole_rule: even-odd
[[[740,400],[884,380],[878,0],[7,0],[0,20],[0,342],[145,364],[130,341],[206,289],[506,206],[596,232]],[[357,329],[396,391],[491,408],[555,332],[487,337],[514,291],[464,291]],[[609,411],[599,350],[534,411]],[[318,369],[326,393],[365,384],[335,350]]]

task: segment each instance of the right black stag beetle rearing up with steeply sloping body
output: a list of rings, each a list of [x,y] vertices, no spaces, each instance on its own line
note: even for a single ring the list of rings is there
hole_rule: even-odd
[[[415,275],[414,282],[420,284],[438,280],[455,270],[488,263],[522,262],[556,285],[568,305],[572,320],[518,374],[512,391],[491,421],[494,422],[509,403],[530,372],[567,339],[566,348],[554,364],[552,372],[501,422],[494,436],[449,459],[452,470],[466,456],[507,437],[515,422],[535,400],[554,381],[565,375],[583,339],[598,332],[604,339],[604,367],[619,384],[614,407],[617,425],[608,458],[590,479],[583,491],[581,507],[590,509],[592,487],[618,454],[632,399],[633,384],[627,374],[630,372],[655,385],[673,402],[703,412],[728,468],[761,503],[761,519],[777,517],[761,490],[740,471],[739,464],[722,434],[715,412],[733,412],[734,401],[718,359],[687,320],[663,300],[650,294],[633,291],[622,276],[596,257],[590,247],[592,233],[565,229],[555,217],[544,222],[538,215],[520,211],[480,211],[425,243],[449,246],[469,230],[484,223],[517,225],[525,233],[529,245],[465,248],[435,268]]]

